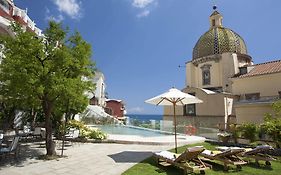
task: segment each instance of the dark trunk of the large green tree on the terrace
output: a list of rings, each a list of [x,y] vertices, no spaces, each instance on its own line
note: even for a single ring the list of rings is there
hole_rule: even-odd
[[[52,112],[52,102],[47,99],[42,101],[43,111],[45,114],[45,128],[46,128],[46,150],[47,155],[53,156],[56,155],[55,151],[55,143],[52,138],[52,120],[51,120],[51,112]]]

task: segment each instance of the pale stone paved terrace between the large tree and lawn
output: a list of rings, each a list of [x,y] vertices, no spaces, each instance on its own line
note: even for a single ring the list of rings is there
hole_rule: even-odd
[[[72,143],[64,150],[67,157],[56,160],[38,160],[45,154],[43,142],[22,143],[19,160],[13,156],[0,161],[2,175],[120,175],[136,163],[152,155],[152,152],[174,147],[173,137],[137,138],[111,135],[111,141],[120,143]],[[131,141],[132,144],[121,144]],[[158,141],[158,142],[157,142]],[[203,142],[204,138],[179,137],[178,145]],[[139,144],[134,144],[134,143]],[[141,143],[140,143],[141,142]],[[148,145],[147,145],[148,144]],[[57,141],[57,153],[61,142]],[[141,172],[140,172],[141,173]]]

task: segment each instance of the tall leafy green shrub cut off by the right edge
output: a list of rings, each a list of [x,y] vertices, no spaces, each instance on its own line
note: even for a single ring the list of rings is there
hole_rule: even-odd
[[[262,130],[272,138],[276,147],[281,147],[281,100],[272,104],[274,114],[267,113],[264,117]]]

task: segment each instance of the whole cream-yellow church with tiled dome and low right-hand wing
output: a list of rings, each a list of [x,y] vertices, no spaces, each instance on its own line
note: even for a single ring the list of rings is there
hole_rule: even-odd
[[[186,87],[182,90],[204,103],[177,107],[178,125],[217,127],[263,120],[281,91],[281,61],[254,65],[243,38],[222,24],[215,10],[210,28],[197,41],[193,57],[186,62]],[[275,69],[273,69],[275,68]],[[172,121],[171,107],[164,120]]]

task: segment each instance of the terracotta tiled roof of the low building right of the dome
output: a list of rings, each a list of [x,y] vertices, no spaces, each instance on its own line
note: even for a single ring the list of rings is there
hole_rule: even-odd
[[[252,77],[257,75],[265,75],[281,72],[281,60],[265,62],[253,65],[253,69],[246,74],[237,76],[236,78]]]

